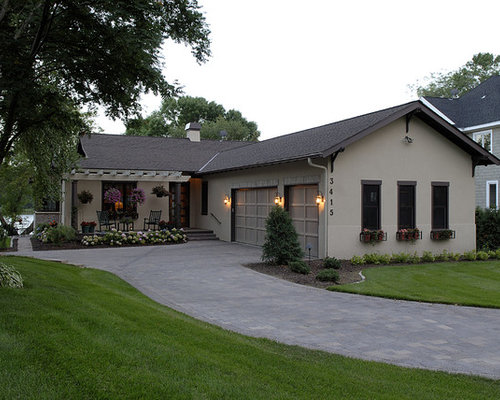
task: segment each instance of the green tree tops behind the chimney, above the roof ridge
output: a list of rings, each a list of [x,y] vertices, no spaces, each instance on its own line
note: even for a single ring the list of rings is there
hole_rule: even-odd
[[[189,122],[202,124],[203,139],[220,139],[220,132],[227,133],[227,140],[257,140],[260,132],[257,124],[248,121],[240,111],[228,110],[203,97],[182,96],[166,98],[159,110],[146,118],[127,121],[127,135],[184,137]]]

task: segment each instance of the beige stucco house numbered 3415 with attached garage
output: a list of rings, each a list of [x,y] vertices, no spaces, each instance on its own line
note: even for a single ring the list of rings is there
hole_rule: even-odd
[[[199,125],[187,129],[190,139],[82,138],[86,158],[64,184],[64,223],[71,205],[75,226],[95,219],[106,185],[149,194],[162,183],[173,202],[148,195],[136,229],[149,210],[162,209],[182,226],[262,245],[278,202],[313,256],[463,252],[475,248],[474,170],[500,164],[420,101],[254,143],[199,141]],[[83,189],[94,194],[91,205],[75,201]],[[396,240],[410,228],[422,239]],[[372,247],[360,241],[363,229],[381,229],[387,240]],[[431,240],[431,231],[446,229],[455,238]]]

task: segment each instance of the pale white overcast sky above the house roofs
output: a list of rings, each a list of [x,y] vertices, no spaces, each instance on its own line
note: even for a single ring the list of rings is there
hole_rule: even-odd
[[[416,100],[425,83],[474,54],[500,54],[500,2],[476,0],[198,0],[212,57],[166,43],[164,74],[255,121],[260,139]],[[142,98],[143,114],[161,99]],[[102,115],[105,133],[125,131]]]

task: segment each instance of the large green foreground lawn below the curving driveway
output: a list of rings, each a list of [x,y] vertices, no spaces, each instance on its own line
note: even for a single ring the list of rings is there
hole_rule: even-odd
[[[0,257],[0,398],[498,399],[500,381],[359,361],[194,320],[116,276]]]

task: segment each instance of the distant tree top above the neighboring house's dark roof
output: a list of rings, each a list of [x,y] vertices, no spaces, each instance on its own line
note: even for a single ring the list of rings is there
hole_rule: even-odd
[[[500,56],[478,53],[465,65],[447,73],[433,73],[426,85],[410,85],[418,96],[460,97],[486,79],[500,74]]]

